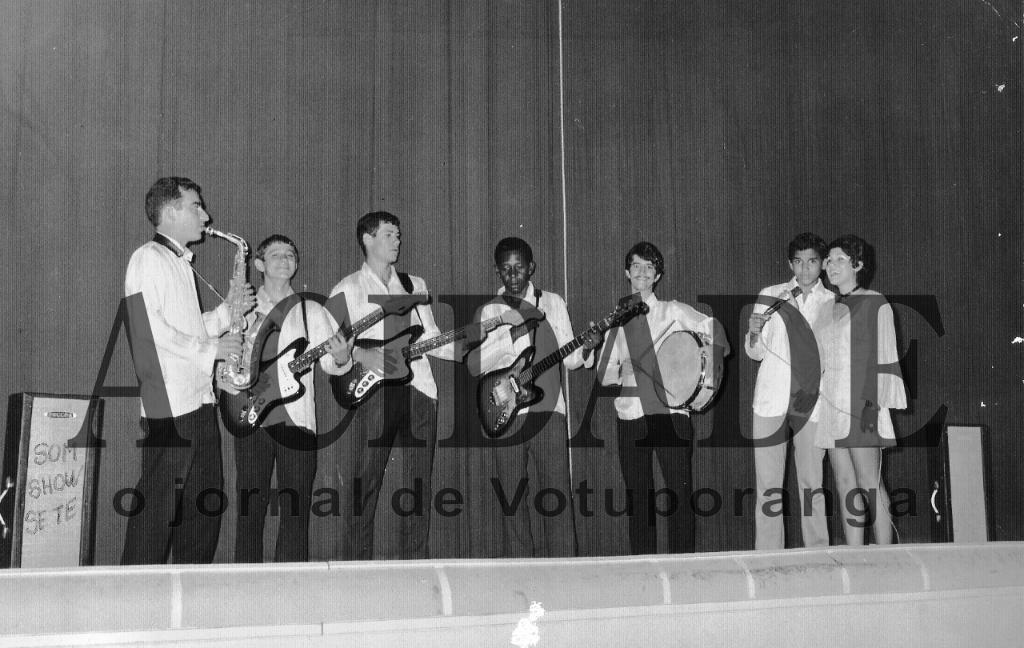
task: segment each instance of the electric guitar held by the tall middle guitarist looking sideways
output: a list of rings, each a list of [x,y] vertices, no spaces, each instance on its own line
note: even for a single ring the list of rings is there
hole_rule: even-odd
[[[406,329],[401,334],[380,343],[374,343],[370,348],[382,348],[384,350],[384,371],[381,375],[375,371],[367,369],[356,362],[352,369],[344,376],[332,376],[331,387],[334,389],[334,397],[341,405],[353,407],[368,398],[377,390],[381,381],[401,384],[413,379],[413,372],[410,362],[424,353],[442,347],[445,344],[462,340],[472,327],[482,326],[487,332],[494,331],[503,325],[518,327],[526,322],[527,319],[543,319],[544,313],[536,308],[526,313],[518,310],[509,310],[498,317],[492,317],[481,322],[463,327],[443,333],[436,338],[416,342],[423,335],[423,327],[416,325]],[[364,347],[367,348],[367,347]]]

